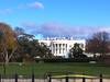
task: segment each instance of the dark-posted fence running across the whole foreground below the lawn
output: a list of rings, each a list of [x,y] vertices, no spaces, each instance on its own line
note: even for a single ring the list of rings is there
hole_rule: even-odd
[[[53,74],[46,73],[44,78],[37,79],[37,77],[32,73],[32,75],[1,75],[0,82],[110,82],[109,77],[89,77],[85,74]]]

